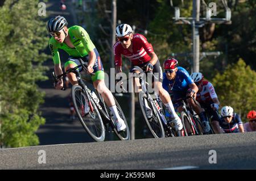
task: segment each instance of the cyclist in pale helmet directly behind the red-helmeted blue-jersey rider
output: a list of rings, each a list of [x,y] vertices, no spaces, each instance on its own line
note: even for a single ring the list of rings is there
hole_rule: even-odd
[[[220,117],[216,111],[218,111],[220,101],[218,100],[214,87],[200,72],[192,73],[191,78],[199,89],[196,95],[196,100],[200,103],[201,107],[204,108],[205,112],[208,113],[209,117],[212,118],[210,123],[212,124],[214,132],[218,133],[220,129],[220,126],[218,125]]]

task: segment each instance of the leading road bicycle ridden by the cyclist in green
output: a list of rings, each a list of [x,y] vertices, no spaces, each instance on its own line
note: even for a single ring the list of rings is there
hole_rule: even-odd
[[[79,68],[82,67],[83,70],[87,71],[87,63],[82,61],[81,58],[78,58],[78,60],[80,61],[80,65],[76,66],[75,68],[68,69],[65,73],[57,76],[53,71],[52,78],[56,83],[60,78],[66,76],[68,73],[76,74],[78,85],[72,86],[71,95],[76,114],[79,117],[85,131],[95,141],[104,141],[106,130],[112,128],[120,140],[130,140],[129,126],[117,100],[114,98],[119,116],[123,119],[123,121],[125,121],[126,125],[126,129],[120,132],[117,131],[117,127],[112,118],[113,115],[108,106],[106,106],[104,99],[99,94],[97,89],[95,89],[95,92],[90,90],[82,80]],[[93,73],[91,75],[93,75]],[[65,89],[63,88],[62,90]],[[88,113],[86,113],[86,107],[89,107],[87,110]]]

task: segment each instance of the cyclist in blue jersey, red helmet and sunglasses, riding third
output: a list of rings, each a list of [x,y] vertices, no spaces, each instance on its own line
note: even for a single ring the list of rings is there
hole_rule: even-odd
[[[189,76],[188,71],[180,66],[178,67],[177,64],[178,61],[174,58],[168,58],[164,61],[163,88],[171,94],[173,101],[185,96],[193,96],[196,99],[198,87]],[[210,131],[210,125],[205,111],[192,98],[187,99],[187,103],[199,115],[204,133],[207,134]],[[180,113],[183,111],[181,102],[174,104],[174,107]]]

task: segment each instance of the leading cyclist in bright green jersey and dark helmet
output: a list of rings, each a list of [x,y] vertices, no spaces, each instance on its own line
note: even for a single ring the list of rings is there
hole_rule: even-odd
[[[80,65],[77,58],[81,58],[83,61],[88,62],[88,73],[94,73],[92,76],[93,86],[101,93],[106,104],[113,113],[118,131],[124,130],[126,128],[125,122],[119,116],[112,92],[110,92],[104,82],[104,68],[102,66],[100,54],[98,54],[96,47],[92,43],[92,40],[90,40],[90,37],[84,28],[80,26],[72,26],[68,28],[67,26],[68,22],[63,16],[51,18],[47,23],[47,30],[52,36],[51,39],[49,39],[49,49],[52,53],[56,75],[63,73],[58,49],[63,49],[70,56],[64,64],[65,71]],[[79,71],[81,70],[82,68],[80,68]],[[72,85],[78,83],[74,73],[69,73],[67,76]],[[56,83],[56,89],[60,90],[62,87],[63,79],[60,79]],[[88,110],[85,110],[85,112],[88,112]]]

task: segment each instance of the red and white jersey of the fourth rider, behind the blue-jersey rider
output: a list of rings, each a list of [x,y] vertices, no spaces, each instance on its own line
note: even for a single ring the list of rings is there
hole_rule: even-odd
[[[196,100],[198,102],[207,103],[214,98],[218,98],[212,83],[208,81],[201,82],[202,89],[197,92]]]

